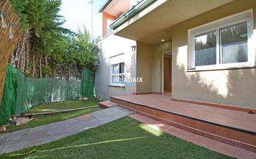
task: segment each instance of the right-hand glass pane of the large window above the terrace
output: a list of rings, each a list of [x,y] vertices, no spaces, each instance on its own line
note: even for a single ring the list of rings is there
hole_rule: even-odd
[[[222,63],[248,61],[247,22],[221,28]]]

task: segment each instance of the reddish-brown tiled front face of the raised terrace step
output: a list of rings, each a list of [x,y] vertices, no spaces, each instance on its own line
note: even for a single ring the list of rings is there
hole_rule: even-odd
[[[177,114],[174,111],[164,110],[163,108],[153,108],[150,105],[144,105],[145,102],[142,105],[142,103],[135,103],[135,101],[118,98],[111,98],[110,101],[135,113],[178,127],[185,131],[193,132],[194,134],[202,135],[235,147],[244,148],[251,152],[256,152],[255,132],[232,126],[224,126],[219,122],[209,122],[205,119],[198,119],[193,115],[188,116],[186,112]],[[190,106],[187,106],[187,109],[189,110]],[[217,116],[217,114],[214,116]],[[208,116],[208,118],[210,117]]]

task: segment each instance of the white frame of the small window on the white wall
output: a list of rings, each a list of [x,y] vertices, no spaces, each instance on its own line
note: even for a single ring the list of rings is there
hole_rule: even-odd
[[[116,60],[114,60],[114,62],[111,60],[113,58],[116,58]],[[121,74],[113,74],[112,72],[112,66],[113,65],[116,65],[116,64],[121,64],[121,63],[124,63],[124,73],[121,73]],[[111,86],[117,86],[117,87],[124,87],[124,84],[113,84],[113,81],[112,81],[112,77],[113,76],[116,76],[116,75],[123,75],[124,78],[125,78],[125,73],[126,73],[126,62],[124,61],[124,53],[121,53],[121,54],[117,54],[115,56],[112,56],[110,57],[110,66],[109,66],[109,69],[110,69],[110,74],[109,74],[109,85]]]

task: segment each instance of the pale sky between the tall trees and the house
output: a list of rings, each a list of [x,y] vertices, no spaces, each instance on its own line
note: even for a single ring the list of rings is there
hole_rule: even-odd
[[[93,39],[101,35],[101,14],[98,12],[106,0],[94,0],[93,2]],[[92,6],[89,0],[62,0],[60,15],[65,17],[63,27],[76,32],[78,26],[85,25],[91,35]]]

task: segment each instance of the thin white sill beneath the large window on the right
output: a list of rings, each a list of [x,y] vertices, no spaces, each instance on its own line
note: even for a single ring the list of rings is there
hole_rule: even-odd
[[[211,66],[211,67],[204,67],[204,68],[198,68],[198,69],[187,69],[186,72],[199,72],[199,71],[217,71],[217,70],[229,70],[229,69],[252,69],[255,68],[255,66]]]

